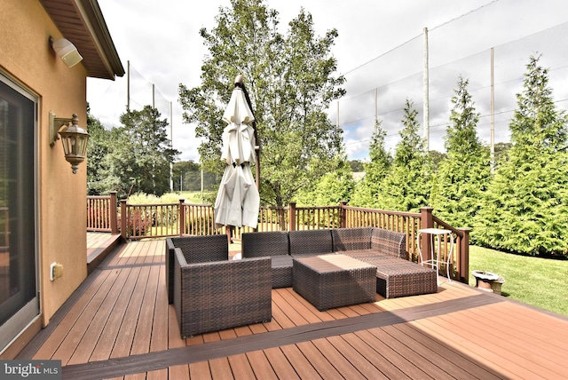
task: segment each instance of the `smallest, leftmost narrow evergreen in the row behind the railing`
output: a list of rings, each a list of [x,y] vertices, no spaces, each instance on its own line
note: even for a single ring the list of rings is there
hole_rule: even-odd
[[[365,177],[357,183],[351,196],[351,205],[374,208],[377,206],[379,185],[390,169],[391,157],[384,148],[386,132],[381,122],[375,123],[375,131],[369,145],[371,162],[365,164]]]

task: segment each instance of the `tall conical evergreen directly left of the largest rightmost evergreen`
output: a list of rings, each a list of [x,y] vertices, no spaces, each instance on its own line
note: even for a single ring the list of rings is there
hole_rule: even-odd
[[[436,186],[430,198],[436,215],[452,226],[472,226],[472,218],[480,207],[479,199],[491,176],[489,152],[477,138],[479,113],[468,83],[460,76],[454,90],[445,142],[447,157],[438,165]]]

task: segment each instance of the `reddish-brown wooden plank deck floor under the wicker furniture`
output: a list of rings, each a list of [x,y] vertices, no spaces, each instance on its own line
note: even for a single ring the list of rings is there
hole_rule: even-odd
[[[568,320],[442,279],[437,294],[319,312],[272,290],[272,321],[181,339],[164,241],[114,249],[17,359],[69,379],[568,378]]]

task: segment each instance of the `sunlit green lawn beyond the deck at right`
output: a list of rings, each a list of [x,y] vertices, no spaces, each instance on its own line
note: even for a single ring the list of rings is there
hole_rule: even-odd
[[[568,260],[511,255],[469,246],[469,271],[500,274],[501,294],[525,304],[568,316]],[[469,285],[476,280],[469,273]]]

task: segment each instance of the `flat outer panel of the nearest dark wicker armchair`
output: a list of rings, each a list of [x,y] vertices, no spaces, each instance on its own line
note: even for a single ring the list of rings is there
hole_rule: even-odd
[[[270,321],[269,257],[187,264],[175,249],[174,308],[183,338]]]

